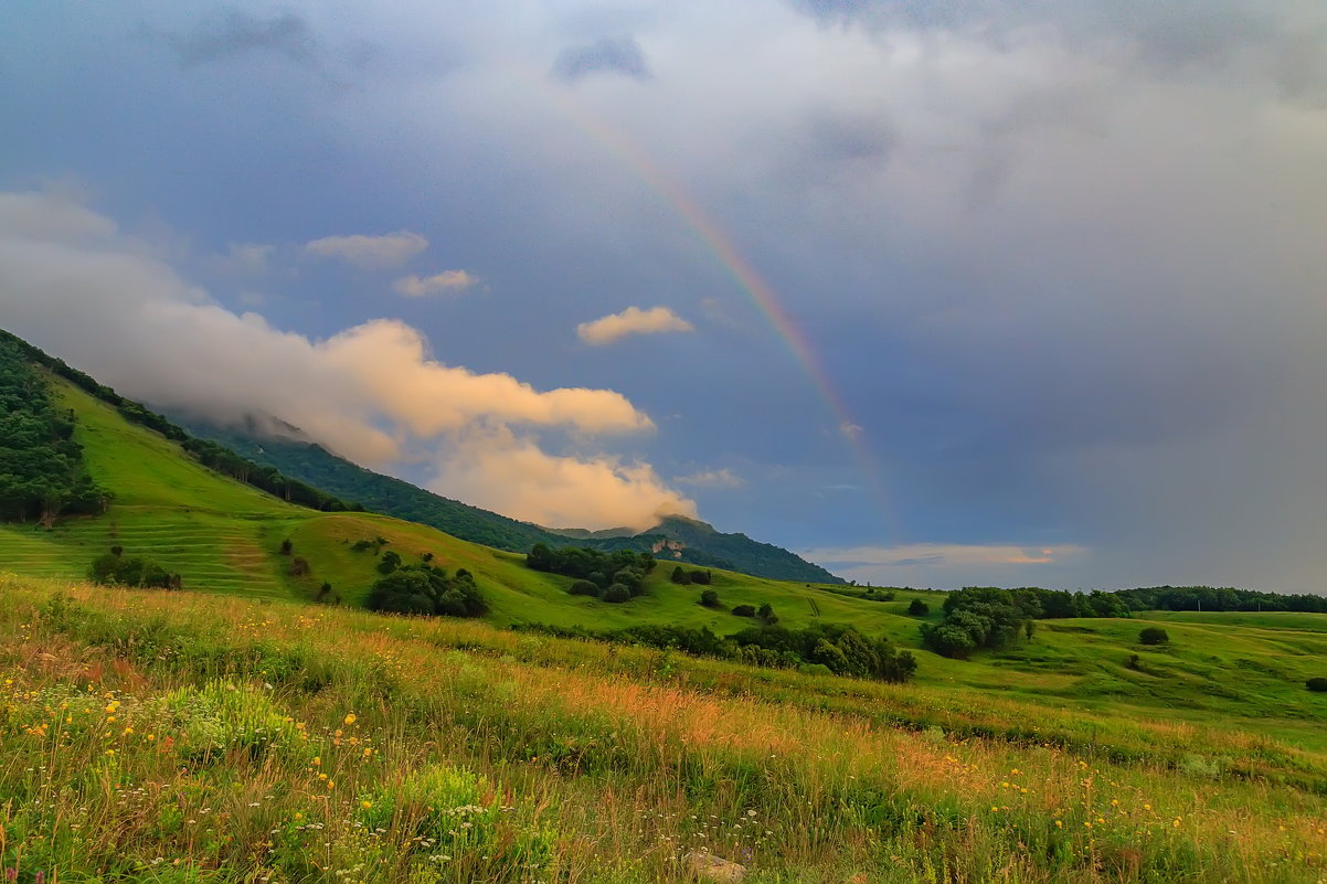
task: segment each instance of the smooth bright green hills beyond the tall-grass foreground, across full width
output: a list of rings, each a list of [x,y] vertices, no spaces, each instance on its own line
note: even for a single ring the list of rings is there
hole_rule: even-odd
[[[947,660],[921,648],[918,625],[938,623],[941,593],[896,591],[868,596],[839,585],[779,581],[713,568],[709,587],[670,581],[664,561],[645,579],[645,593],[626,604],[568,593],[572,579],[525,567],[524,556],[468,543],[429,526],[368,512],[322,512],[296,506],[210,470],[184,442],[130,422],[113,406],[62,377],[52,394],[73,417],[84,466],[113,495],[101,515],[74,515],[45,530],[0,524],[0,569],[81,579],[111,546],[146,556],[182,576],[188,592],[308,601],[320,596],[361,603],[381,576],[384,552],[406,564],[426,557],[464,568],[491,603],[498,626],[544,624],[596,633],[640,625],[707,628],[725,636],[752,625],[730,613],[738,605],[771,605],[783,626],[852,624],[885,636],[921,661],[921,684],[965,684],[1035,702],[1111,709],[1120,703],[1201,721],[1209,714],[1257,721],[1283,734],[1316,727],[1323,700],[1304,690],[1327,657],[1327,630],[1307,613],[1136,613],[1132,619],[1040,621],[1031,640],[973,661]],[[703,527],[679,526],[679,528]],[[612,539],[604,539],[610,542]],[[283,546],[289,542],[288,553]],[[381,542],[381,543],[380,543]],[[369,548],[362,548],[369,546]],[[357,547],[358,548],[357,551]],[[703,589],[718,607],[703,607]],[[930,613],[908,615],[925,600]],[[1139,630],[1164,625],[1172,642],[1137,644]],[[1131,662],[1132,657],[1137,657]]]

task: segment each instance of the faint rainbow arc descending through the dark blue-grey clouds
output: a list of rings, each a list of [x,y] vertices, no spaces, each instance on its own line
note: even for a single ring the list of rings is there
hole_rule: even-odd
[[[543,78],[540,78],[543,80]],[[835,389],[825,373],[824,366],[816,357],[815,350],[807,341],[805,334],[794,325],[788,312],[779,303],[774,289],[766,283],[751,264],[742,258],[733,239],[727,236],[705,208],[678,184],[667,171],[654,161],[642,147],[634,143],[626,134],[617,131],[605,121],[591,113],[583,105],[575,102],[569,94],[555,86],[543,84],[551,104],[571,118],[587,135],[616,155],[624,165],[630,167],[650,188],[658,194],[686,226],[695,234],[697,239],[709,250],[719,264],[733,276],[738,288],[751,299],[756,309],[768,320],[779,338],[788,346],[792,357],[805,372],[815,386],[821,401],[829,409],[836,422],[836,429],[852,451],[853,461],[867,480],[867,487],[881,506],[881,514],[886,524],[893,528],[894,519],[889,498],[885,494],[884,479],[871,449],[867,446],[865,431],[853,419],[844,404],[843,396]]]

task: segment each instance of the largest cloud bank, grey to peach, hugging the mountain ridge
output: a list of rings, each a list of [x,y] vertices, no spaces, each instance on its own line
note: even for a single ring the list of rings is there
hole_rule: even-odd
[[[275,415],[370,465],[427,457],[439,463],[439,490],[515,518],[604,528],[694,512],[645,463],[553,457],[531,435],[652,430],[620,393],[537,390],[446,365],[398,320],[326,340],[284,332],[216,304],[150,251],[54,196],[0,194],[0,316],[133,398],[220,419]]]

